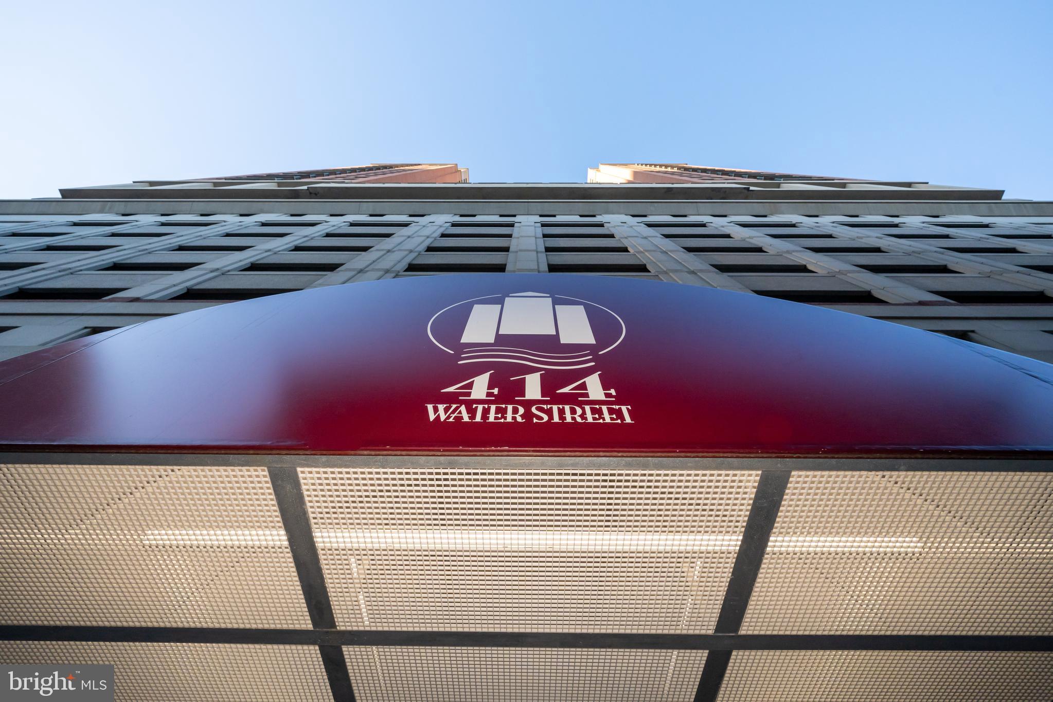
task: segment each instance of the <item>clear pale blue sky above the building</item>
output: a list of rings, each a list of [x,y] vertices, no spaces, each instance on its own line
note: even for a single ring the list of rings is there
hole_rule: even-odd
[[[679,161],[1053,199],[1053,2],[0,0],[0,197]]]

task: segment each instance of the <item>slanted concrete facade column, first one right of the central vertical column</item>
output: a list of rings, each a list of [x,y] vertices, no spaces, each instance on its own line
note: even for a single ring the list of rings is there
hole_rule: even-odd
[[[753,293],[729,278],[682,246],[667,239],[645,224],[625,215],[604,215],[603,223],[629,250],[636,254],[651,273],[662,280],[688,285],[718,287],[723,290]]]

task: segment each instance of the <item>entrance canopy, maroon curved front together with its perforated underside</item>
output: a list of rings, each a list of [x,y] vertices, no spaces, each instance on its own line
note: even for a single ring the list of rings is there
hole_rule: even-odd
[[[1048,366],[746,295],[458,278],[0,364],[0,660],[116,663],[147,702],[1053,695]],[[592,304],[623,340],[560,348],[620,328]],[[460,363],[510,308],[555,337],[517,348],[595,365]],[[633,422],[430,419],[492,389]]]

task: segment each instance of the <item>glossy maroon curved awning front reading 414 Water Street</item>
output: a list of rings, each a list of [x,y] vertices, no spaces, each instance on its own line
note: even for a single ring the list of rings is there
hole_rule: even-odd
[[[0,363],[4,449],[1053,452],[1053,366],[769,298],[571,275],[309,289]]]

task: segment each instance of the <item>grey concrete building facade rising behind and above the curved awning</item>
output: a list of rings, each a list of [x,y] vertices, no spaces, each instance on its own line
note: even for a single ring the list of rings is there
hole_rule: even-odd
[[[443,166],[414,178],[452,167],[466,179],[456,164],[408,165]],[[659,166],[701,171],[662,184]],[[806,302],[1053,362],[1051,202],[683,164],[651,164],[648,184],[289,173],[315,178],[138,181],[0,201],[0,357],[307,287],[550,272]]]

